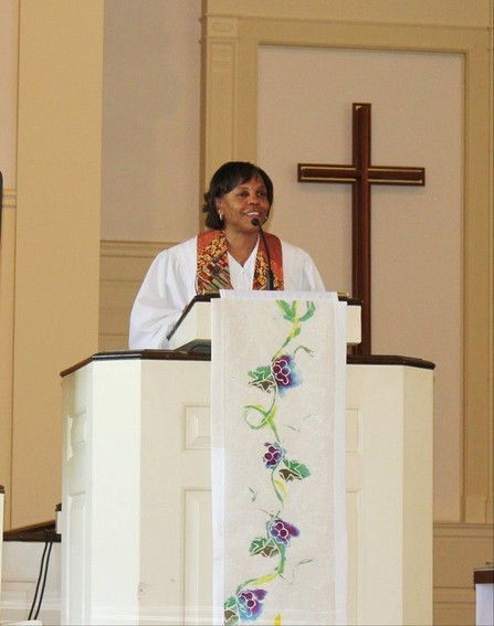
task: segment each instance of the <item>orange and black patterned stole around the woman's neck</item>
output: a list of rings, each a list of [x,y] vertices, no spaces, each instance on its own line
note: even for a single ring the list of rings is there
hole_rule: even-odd
[[[274,289],[283,289],[283,256],[281,241],[270,233],[264,233],[271,254],[271,269]],[[259,242],[255,257],[254,280],[252,288],[266,289],[267,255],[264,243]],[[228,265],[227,237],[224,231],[209,230],[197,237],[197,277],[196,291],[199,295],[218,294],[220,289],[232,289],[230,267]]]

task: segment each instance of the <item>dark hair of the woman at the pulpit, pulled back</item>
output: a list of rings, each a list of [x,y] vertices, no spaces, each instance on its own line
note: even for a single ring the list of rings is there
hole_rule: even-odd
[[[223,227],[223,220],[217,212],[216,201],[225,193],[229,193],[238,184],[242,184],[252,177],[260,176],[266,188],[266,197],[270,206],[273,204],[273,182],[264,170],[248,161],[229,161],[223,163],[213,174],[209,183],[209,190],[204,193],[204,204],[202,211],[207,213],[206,225],[209,229],[220,230]]]

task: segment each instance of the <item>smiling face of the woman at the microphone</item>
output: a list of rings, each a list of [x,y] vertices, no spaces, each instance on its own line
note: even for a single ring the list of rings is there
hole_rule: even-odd
[[[259,220],[262,225],[270,212],[266,187],[260,176],[240,182],[231,191],[218,198],[216,205],[218,214],[223,219],[224,230],[230,232],[255,232],[257,226],[252,224],[252,220]]]

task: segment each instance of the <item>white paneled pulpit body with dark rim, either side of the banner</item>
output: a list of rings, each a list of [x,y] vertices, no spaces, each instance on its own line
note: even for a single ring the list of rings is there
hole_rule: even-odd
[[[210,357],[62,373],[63,624],[210,624]],[[348,357],[348,623],[432,624],[433,364]]]

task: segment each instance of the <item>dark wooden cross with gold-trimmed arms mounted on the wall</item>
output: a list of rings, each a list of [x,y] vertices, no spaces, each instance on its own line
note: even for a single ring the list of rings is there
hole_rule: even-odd
[[[407,184],[423,187],[423,168],[396,168],[370,165],[370,104],[353,104],[353,162],[349,166],[298,163],[298,182],[350,183],[351,288],[361,299],[361,343],[357,353],[370,354],[370,187]]]

